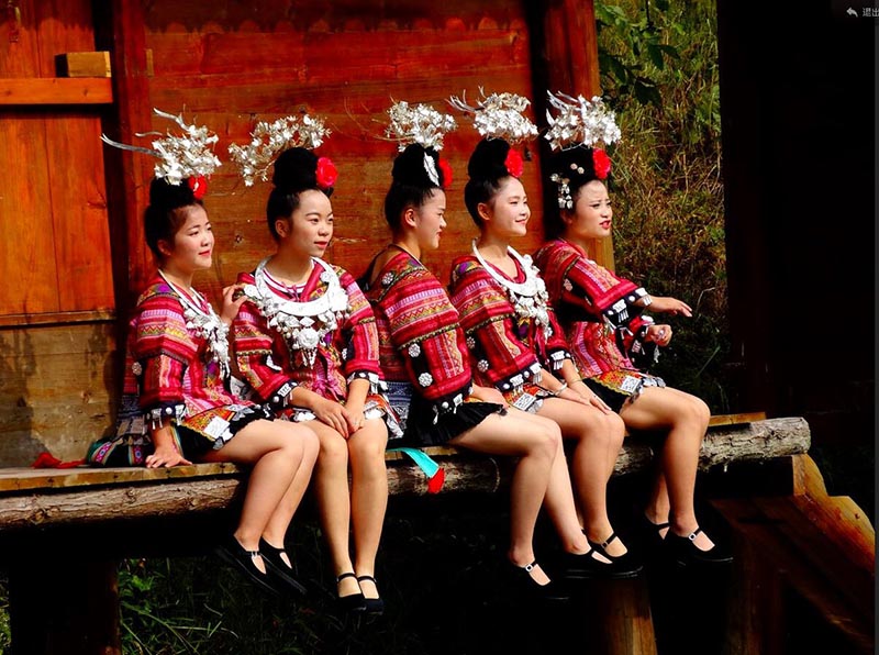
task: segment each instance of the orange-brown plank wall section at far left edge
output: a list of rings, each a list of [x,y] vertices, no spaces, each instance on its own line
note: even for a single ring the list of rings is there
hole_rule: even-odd
[[[94,49],[88,0],[0,22],[0,466],[82,456],[112,422],[114,287],[101,108],[109,80],[59,80]]]

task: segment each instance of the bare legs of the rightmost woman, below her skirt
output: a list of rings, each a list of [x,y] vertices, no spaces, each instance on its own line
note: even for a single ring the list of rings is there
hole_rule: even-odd
[[[693,507],[699,449],[708,429],[711,412],[699,398],[669,387],[648,387],[634,402],[626,403],[620,415],[636,430],[667,429],[660,458],[661,479],[654,486],[646,515],[664,522],[667,511],[675,534],[693,532],[699,522]],[[693,544],[710,549],[714,543],[700,533]]]

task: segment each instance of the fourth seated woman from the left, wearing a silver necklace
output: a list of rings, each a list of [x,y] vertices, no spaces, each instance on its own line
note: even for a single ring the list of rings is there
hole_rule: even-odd
[[[449,296],[467,335],[477,384],[500,391],[507,402],[554,421],[576,442],[570,468],[583,531],[592,548],[611,560],[609,573],[641,570],[617,536],[607,510],[607,484],[623,444],[622,420],[593,393],[570,388],[578,380],[565,334],[547,303],[539,271],[511,241],[524,236],[531,217],[520,181],[522,155],[512,147],[536,134],[522,111],[530,102],[512,93],[491,95],[470,107],[482,135],[468,163],[465,203],[479,236],[471,252],[452,263]]]

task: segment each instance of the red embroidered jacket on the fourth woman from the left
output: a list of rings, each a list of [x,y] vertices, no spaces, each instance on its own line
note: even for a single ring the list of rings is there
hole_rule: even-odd
[[[523,282],[526,273],[519,262],[516,270],[516,279],[511,281]],[[508,402],[513,402],[522,391],[533,391],[542,368],[558,370],[569,357],[552,308],[547,308],[548,330],[534,318],[518,315],[504,287],[474,255],[452,263],[449,295],[467,335],[474,379],[497,388]]]

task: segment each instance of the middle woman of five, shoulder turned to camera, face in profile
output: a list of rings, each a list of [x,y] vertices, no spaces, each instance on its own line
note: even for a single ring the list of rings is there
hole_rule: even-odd
[[[472,384],[458,313],[421,258],[439,245],[446,227],[445,188],[450,167],[439,158],[443,135],[454,127],[426,106],[396,103],[388,135],[402,151],[385,198],[392,241],[372,259],[361,286],[372,303],[389,398],[404,421],[404,443],[450,444],[516,457],[511,485],[508,558],[516,584],[542,599],[564,600],[534,554],[542,504],[561,540],[560,577],[589,577],[610,563],[589,548],[580,531],[561,451],[552,422],[510,408],[497,390]]]

